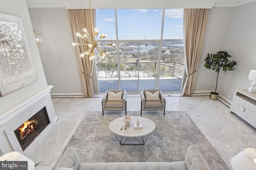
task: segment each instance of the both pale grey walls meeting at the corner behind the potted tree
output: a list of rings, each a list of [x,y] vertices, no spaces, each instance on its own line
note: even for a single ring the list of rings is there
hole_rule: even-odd
[[[204,47],[198,68],[195,90],[214,90],[217,74],[204,67],[206,55],[226,50],[237,62],[234,71],[220,72],[219,92],[224,97],[231,96],[236,89],[248,88],[249,70],[256,69],[256,2],[235,8],[212,8],[208,20]]]

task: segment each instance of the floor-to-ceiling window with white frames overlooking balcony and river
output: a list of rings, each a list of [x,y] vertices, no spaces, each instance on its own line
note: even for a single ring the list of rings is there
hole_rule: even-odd
[[[96,53],[98,86],[139,92],[180,92],[184,70],[183,9],[97,9],[96,27],[108,37]],[[96,52],[96,51],[95,51]]]

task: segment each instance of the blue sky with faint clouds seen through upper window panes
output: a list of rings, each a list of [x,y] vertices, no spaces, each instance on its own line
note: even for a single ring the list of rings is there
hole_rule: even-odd
[[[162,9],[118,9],[118,37],[120,40],[160,39]],[[96,27],[106,39],[116,39],[114,9],[96,9]],[[183,39],[183,9],[166,9],[163,39]]]

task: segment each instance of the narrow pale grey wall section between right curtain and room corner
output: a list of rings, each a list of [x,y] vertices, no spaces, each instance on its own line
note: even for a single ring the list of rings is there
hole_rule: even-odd
[[[195,91],[214,90],[217,74],[204,67],[208,53],[215,53],[223,49],[226,39],[228,24],[232,17],[233,8],[212,8],[206,26],[202,55],[196,75]]]

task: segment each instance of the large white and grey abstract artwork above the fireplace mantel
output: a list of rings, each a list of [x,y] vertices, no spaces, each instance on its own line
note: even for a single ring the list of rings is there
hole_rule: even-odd
[[[21,17],[0,13],[0,97],[37,80]]]

